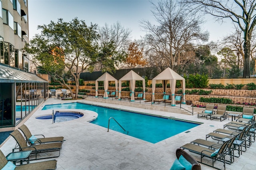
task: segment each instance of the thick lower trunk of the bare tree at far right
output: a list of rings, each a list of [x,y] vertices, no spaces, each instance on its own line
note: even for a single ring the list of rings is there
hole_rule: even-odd
[[[250,78],[250,41],[244,37],[244,78]]]

